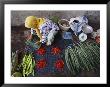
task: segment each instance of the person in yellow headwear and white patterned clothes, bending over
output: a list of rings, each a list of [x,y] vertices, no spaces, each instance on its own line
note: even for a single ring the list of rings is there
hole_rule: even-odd
[[[35,16],[28,16],[25,20],[25,27],[31,28],[32,34],[40,38],[40,42],[51,45],[54,40],[54,35],[58,32],[59,27],[47,18],[37,18]]]

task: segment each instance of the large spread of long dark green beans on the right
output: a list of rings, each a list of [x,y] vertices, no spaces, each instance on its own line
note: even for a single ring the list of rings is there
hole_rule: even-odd
[[[83,42],[65,49],[68,69],[76,75],[80,70],[96,70],[100,64],[100,47],[95,42]]]

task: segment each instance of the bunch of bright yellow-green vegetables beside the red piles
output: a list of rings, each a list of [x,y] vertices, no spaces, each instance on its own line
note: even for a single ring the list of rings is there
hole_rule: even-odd
[[[35,60],[33,59],[32,53],[25,54],[22,61],[23,67],[23,77],[29,76],[32,74],[34,76],[34,67],[35,67]]]

